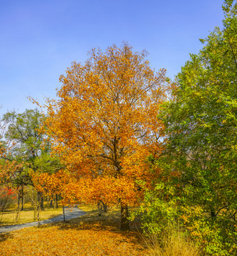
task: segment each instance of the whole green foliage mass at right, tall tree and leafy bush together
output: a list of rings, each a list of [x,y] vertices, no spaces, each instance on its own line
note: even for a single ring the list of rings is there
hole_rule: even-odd
[[[224,2],[199,54],[177,75],[173,100],[162,105],[165,151],[159,185],[145,196],[144,227],[181,225],[204,255],[237,255],[237,4]],[[173,224],[175,223],[175,224]]]

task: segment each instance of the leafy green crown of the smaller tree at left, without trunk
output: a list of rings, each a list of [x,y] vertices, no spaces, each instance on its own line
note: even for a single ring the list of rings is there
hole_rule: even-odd
[[[3,121],[7,126],[5,138],[14,145],[8,158],[22,164],[12,180],[15,186],[31,184],[29,169],[33,168],[35,158],[41,154],[40,145],[43,136],[38,129],[42,118],[38,110],[26,110],[21,114],[15,111],[4,114]]]

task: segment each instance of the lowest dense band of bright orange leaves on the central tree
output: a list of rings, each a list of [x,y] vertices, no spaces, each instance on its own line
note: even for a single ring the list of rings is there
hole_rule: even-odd
[[[100,200],[108,204],[118,203],[118,198],[123,198],[124,203],[135,204],[141,193],[136,184],[125,177],[111,177],[108,183],[107,177],[76,180],[65,171],[58,171],[56,174],[31,173],[31,179],[37,191],[48,196],[61,195],[63,205]]]

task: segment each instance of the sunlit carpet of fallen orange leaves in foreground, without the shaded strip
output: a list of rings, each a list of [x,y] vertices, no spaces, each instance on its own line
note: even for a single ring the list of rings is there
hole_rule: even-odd
[[[99,228],[99,225],[75,228],[25,228],[1,242],[1,255],[145,255],[133,234]],[[1,236],[1,238],[4,235]],[[13,239],[11,239],[13,238]]]

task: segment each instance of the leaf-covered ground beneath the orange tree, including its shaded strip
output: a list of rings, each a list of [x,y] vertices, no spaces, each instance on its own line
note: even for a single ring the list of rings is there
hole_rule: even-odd
[[[119,230],[119,208],[98,215],[93,207],[79,206],[86,215],[0,234],[0,255],[148,255],[137,231]]]

